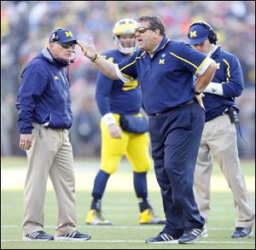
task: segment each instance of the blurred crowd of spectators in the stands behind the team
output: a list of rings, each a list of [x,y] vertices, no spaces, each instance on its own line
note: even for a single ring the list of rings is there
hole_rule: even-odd
[[[94,38],[96,49],[114,49],[112,29],[117,20],[159,15],[166,35],[187,41],[191,22],[206,20],[218,32],[218,44],[238,56],[245,90],[241,108],[241,133],[247,150],[255,152],[255,2],[254,1],[1,1],[1,155],[23,155],[18,148],[16,95],[22,68],[48,44],[56,27],[72,30],[75,38]],[[95,102],[96,67],[76,48],[69,67],[73,98],[71,140],[75,156],[99,156],[100,113]]]

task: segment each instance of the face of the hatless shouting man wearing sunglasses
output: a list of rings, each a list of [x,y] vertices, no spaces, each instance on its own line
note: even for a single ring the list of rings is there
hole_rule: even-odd
[[[135,36],[139,49],[151,51],[155,48],[154,38],[156,34],[154,30],[148,28],[148,26],[148,21],[138,22],[137,28],[135,29]]]

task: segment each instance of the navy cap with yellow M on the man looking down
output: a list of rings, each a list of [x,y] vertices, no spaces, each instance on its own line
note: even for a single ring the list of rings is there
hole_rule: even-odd
[[[189,28],[189,43],[190,45],[201,44],[207,40],[210,31],[205,26],[195,24]]]

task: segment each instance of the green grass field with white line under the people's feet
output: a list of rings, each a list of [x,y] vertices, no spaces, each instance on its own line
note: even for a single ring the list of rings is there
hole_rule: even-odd
[[[76,160],[77,229],[92,235],[84,242],[24,242],[21,241],[22,189],[26,176],[26,159],[1,159],[1,249],[254,249],[255,238],[234,240],[230,234],[235,227],[236,213],[233,200],[222,173],[215,166],[212,174],[212,210],[207,224],[209,237],[189,245],[148,245],[144,242],[157,235],[162,226],[139,225],[138,206],[132,187],[129,165],[122,161],[119,171],[110,177],[103,196],[103,215],[113,226],[89,226],[84,218],[90,207],[90,191],[99,160]],[[242,162],[247,189],[255,196],[253,162]],[[154,211],[163,216],[160,191],[154,172],[148,173],[148,193]],[[55,194],[49,183],[44,209],[44,230],[54,234],[57,218]],[[253,231],[254,233],[254,231]]]

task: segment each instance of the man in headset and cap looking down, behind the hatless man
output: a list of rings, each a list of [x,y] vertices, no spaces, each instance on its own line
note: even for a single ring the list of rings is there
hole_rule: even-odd
[[[204,90],[206,123],[195,167],[195,200],[207,222],[214,158],[232,190],[236,206],[236,229],[231,237],[247,238],[252,235],[254,206],[246,189],[236,146],[239,109],[235,97],[240,96],[243,90],[240,62],[236,55],[224,51],[216,44],[217,33],[205,21],[194,22],[189,27],[188,37],[194,49],[210,56],[218,65],[212,82]]]

